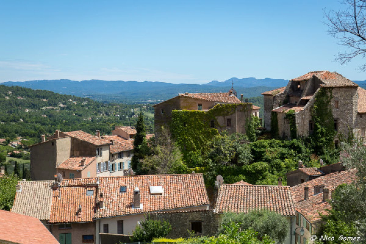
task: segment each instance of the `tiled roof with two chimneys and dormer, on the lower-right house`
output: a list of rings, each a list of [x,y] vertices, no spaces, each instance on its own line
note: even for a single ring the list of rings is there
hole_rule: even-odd
[[[314,186],[325,185],[325,188],[329,189],[330,197],[331,191],[338,185],[353,183],[356,179],[355,173],[355,169],[330,173],[291,187],[291,195],[295,203],[296,211],[301,213],[309,222],[318,221],[321,218],[319,213],[326,214],[325,210],[330,209],[330,204],[322,201],[323,193],[314,195]],[[309,199],[307,200],[304,200],[305,187],[309,187]]]

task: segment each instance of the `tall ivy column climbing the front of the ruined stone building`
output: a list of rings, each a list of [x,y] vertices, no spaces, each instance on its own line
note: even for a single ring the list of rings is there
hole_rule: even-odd
[[[315,102],[311,109],[311,116],[314,121],[314,150],[317,155],[322,155],[326,150],[334,149],[334,119],[332,113],[332,89],[321,88],[315,95]]]

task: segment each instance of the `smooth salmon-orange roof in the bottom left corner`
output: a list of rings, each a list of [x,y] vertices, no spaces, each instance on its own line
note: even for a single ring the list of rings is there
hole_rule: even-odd
[[[59,243],[37,218],[0,210],[0,223],[0,243]]]

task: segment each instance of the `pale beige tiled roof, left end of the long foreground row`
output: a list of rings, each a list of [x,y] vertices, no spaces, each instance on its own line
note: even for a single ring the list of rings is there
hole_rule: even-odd
[[[21,191],[16,192],[11,212],[38,219],[49,219],[53,180],[19,181]]]

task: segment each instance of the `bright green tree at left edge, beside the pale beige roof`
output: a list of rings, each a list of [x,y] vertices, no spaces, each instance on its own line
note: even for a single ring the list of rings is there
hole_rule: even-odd
[[[0,209],[10,211],[14,203],[18,178],[11,174],[0,178]]]

